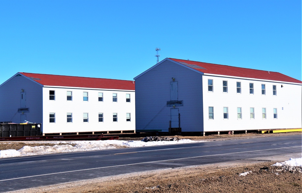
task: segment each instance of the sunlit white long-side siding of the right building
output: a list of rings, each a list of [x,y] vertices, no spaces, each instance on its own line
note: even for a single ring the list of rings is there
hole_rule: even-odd
[[[213,79],[214,92],[208,92],[208,79]],[[205,131],[301,128],[300,85],[213,76],[203,76],[203,81]],[[223,93],[223,81],[228,81],[228,93]],[[241,94],[236,93],[237,81],[241,82]],[[254,94],[249,94],[249,83],[254,84]],[[272,85],[277,87],[276,96]],[[214,107],[213,120],[208,119],[209,106]],[[223,119],[223,107],[228,107],[229,119]],[[242,108],[242,119],[237,119],[237,107]],[[250,119],[250,107],[254,107],[255,119]],[[262,108],[266,108],[266,119],[262,119]],[[277,119],[273,108],[277,108]]]

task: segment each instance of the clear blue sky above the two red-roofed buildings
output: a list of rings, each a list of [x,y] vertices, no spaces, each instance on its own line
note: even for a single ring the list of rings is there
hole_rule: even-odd
[[[0,84],[17,72],[133,80],[165,58],[301,80],[301,1],[0,0]]]

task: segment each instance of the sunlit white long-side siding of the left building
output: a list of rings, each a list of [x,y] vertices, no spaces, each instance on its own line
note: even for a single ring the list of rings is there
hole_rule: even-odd
[[[49,100],[49,90],[55,90],[55,100]],[[67,101],[67,91],[72,91],[72,101]],[[88,92],[88,101],[83,101],[83,92]],[[103,102],[98,101],[99,92]],[[112,101],[112,93],[117,93],[117,102]],[[126,93],[130,103],[126,103]],[[44,87],[43,98],[44,133],[135,130],[134,91]],[[55,123],[49,123],[49,113],[56,113]],[[67,113],[72,113],[72,122],[67,122]],[[83,113],[88,113],[88,122],[83,122]],[[98,122],[98,113],[103,113],[103,122]],[[117,122],[113,122],[113,113],[117,113]],[[130,122],[126,113],[131,113]]]

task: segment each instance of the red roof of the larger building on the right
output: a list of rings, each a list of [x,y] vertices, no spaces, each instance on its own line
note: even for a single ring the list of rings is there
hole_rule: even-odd
[[[169,58],[169,59],[184,65],[187,64],[188,67],[207,74],[219,74],[219,75],[226,75],[226,76],[256,78],[256,79],[265,79],[265,80],[272,80],[272,81],[302,83],[302,81],[299,81],[295,78],[291,78],[279,72],[269,71],[268,73],[268,71],[255,70],[250,68],[240,68],[234,66],[226,66],[226,65],[196,62],[191,60],[181,60],[181,59],[174,59],[174,58]]]

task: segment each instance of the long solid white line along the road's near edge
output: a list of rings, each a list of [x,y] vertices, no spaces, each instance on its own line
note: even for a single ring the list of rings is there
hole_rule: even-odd
[[[293,146],[293,147],[302,147],[302,146]],[[206,156],[184,157],[184,158],[177,158],[177,159],[171,159],[171,160],[159,160],[159,161],[152,161],[152,162],[130,163],[130,164],[117,165],[117,166],[106,166],[106,167],[98,167],[98,168],[79,169],[79,170],[72,170],[72,171],[67,171],[67,172],[56,172],[56,173],[41,174],[41,175],[35,175],[35,176],[25,176],[25,177],[20,177],[20,178],[11,178],[11,179],[0,180],[0,182],[8,181],[8,180],[31,178],[31,177],[37,177],[37,176],[48,176],[48,175],[53,175],[53,174],[63,174],[63,173],[69,173],[69,172],[87,171],[87,170],[92,170],[92,169],[102,169],[102,168],[111,168],[111,167],[119,167],[119,166],[131,166],[131,165],[138,165],[138,164],[144,164],[144,163],[156,163],[156,162],[165,162],[165,161],[172,161],[172,160],[185,160],[185,159],[198,158],[198,157],[210,157],[210,156],[219,156],[219,155],[228,155],[228,154],[236,154],[236,153],[255,152],[255,151],[278,150],[278,149],[287,149],[287,148],[293,148],[293,147],[280,147],[280,148],[265,149],[265,150],[252,150],[252,151],[241,151],[241,152],[233,152],[233,153],[221,153],[221,154],[206,155]]]

